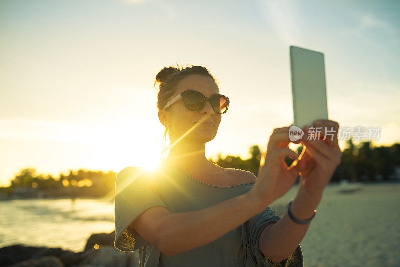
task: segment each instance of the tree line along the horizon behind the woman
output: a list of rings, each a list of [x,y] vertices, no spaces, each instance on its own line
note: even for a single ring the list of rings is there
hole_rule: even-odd
[[[303,146],[297,148],[300,154]],[[372,147],[371,142],[361,142],[354,145],[352,140],[346,141],[346,147],[342,150],[341,163],[334,172],[331,182],[349,180],[353,182],[373,182],[400,179],[400,143],[391,146]],[[258,145],[249,149],[250,157],[246,160],[240,156],[227,155],[211,162],[224,167],[247,170],[257,175],[261,159],[261,150]],[[289,166],[294,159],[286,157]],[[36,174],[36,169],[25,168],[11,180],[11,186],[0,187],[0,192],[10,194],[15,188],[25,187],[39,190],[68,189],[69,193],[76,195],[105,196],[115,188],[116,172],[90,171],[79,169],[69,170],[68,175],[60,174],[58,178],[52,175],[44,176]],[[298,182],[298,181],[297,181]],[[64,190],[65,191],[65,190]]]

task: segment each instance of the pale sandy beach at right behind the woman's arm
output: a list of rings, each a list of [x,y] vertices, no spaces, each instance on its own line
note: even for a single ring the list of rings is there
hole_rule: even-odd
[[[364,184],[342,194],[329,185],[300,245],[304,266],[400,266],[400,184]],[[279,216],[293,187],[271,207]]]

